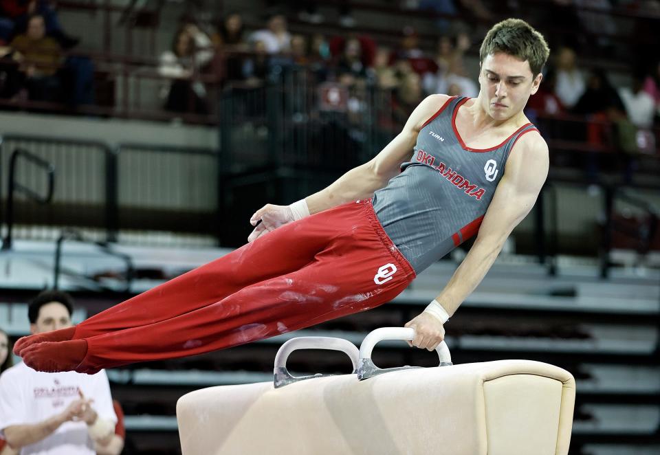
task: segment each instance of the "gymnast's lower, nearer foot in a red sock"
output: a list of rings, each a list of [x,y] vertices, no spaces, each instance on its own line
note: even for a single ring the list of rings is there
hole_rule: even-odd
[[[25,365],[37,371],[96,373],[81,365],[87,355],[87,340],[35,343],[23,348],[21,353]]]

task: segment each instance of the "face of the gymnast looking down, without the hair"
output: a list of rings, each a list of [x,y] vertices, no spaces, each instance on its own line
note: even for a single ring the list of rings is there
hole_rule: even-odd
[[[527,60],[504,52],[490,54],[481,62],[479,73],[481,105],[495,120],[507,120],[522,111],[541,78],[532,74]]]

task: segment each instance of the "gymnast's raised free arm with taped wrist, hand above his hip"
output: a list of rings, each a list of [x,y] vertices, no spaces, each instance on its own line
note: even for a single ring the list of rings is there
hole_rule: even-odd
[[[369,199],[376,190],[386,186],[387,182],[397,175],[401,163],[412,153],[419,130],[447,99],[446,95],[428,96],[410,114],[401,133],[378,155],[369,162],[349,170],[327,188],[293,203],[291,206],[267,204],[257,210],[250,218],[250,223],[255,228],[248,237],[248,242],[265,232],[272,231],[308,214],[322,212],[356,199]]]

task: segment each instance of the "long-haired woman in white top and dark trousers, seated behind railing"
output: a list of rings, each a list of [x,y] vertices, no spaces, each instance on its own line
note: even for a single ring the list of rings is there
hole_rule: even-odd
[[[213,57],[209,36],[192,23],[176,32],[172,49],[160,56],[158,72],[173,78],[165,109],[172,112],[208,113],[206,87],[195,76]]]

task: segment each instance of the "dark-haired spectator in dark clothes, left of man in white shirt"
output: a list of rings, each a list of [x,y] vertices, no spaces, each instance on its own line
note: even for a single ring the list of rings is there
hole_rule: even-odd
[[[223,56],[222,71],[226,80],[243,79],[243,57],[231,52],[245,52],[250,49],[243,38],[244,29],[241,14],[232,13],[225,16],[225,19],[219,23],[217,32],[211,37],[217,49],[230,52]],[[217,70],[215,72],[217,73]]]

